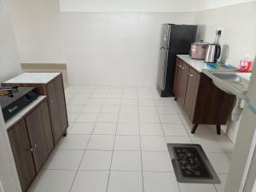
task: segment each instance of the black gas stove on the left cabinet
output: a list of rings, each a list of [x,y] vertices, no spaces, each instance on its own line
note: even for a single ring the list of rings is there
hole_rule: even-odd
[[[38,98],[34,87],[0,87],[0,105],[5,122]]]

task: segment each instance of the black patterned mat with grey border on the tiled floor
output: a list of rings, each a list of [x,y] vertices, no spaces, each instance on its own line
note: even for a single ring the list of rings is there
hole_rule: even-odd
[[[207,155],[198,144],[167,144],[180,183],[220,183]]]

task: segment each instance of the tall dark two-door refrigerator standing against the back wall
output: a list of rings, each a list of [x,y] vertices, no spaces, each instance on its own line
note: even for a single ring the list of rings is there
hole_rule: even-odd
[[[174,96],[172,92],[176,55],[189,55],[195,42],[197,26],[163,24],[157,89],[160,96]]]

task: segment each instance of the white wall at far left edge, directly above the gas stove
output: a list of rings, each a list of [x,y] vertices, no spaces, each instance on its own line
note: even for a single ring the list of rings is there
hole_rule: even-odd
[[[0,5],[0,82],[20,73],[13,26],[6,9]]]

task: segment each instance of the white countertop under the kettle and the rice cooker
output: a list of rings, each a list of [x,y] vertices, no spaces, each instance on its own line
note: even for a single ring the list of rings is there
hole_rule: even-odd
[[[177,55],[177,57],[188,63],[190,67],[193,67],[199,73],[202,73],[204,69],[209,69],[204,60],[191,59],[189,55]]]

